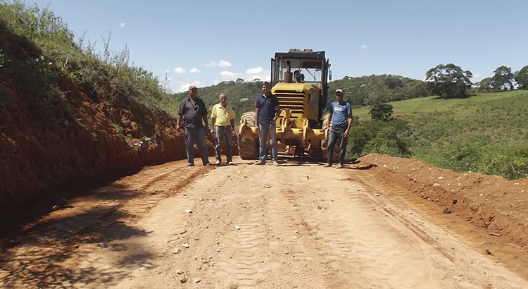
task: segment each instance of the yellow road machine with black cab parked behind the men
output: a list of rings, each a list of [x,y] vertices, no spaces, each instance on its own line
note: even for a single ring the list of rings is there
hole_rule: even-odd
[[[271,59],[272,94],[282,109],[277,118],[278,152],[284,155],[326,157],[327,131],[322,130],[323,112],[332,80],[325,51],[289,49]],[[239,154],[242,159],[258,157],[255,113],[244,113],[239,125]]]

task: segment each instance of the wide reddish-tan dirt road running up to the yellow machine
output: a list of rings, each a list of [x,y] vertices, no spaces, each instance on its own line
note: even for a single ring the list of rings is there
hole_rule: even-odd
[[[151,166],[68,200],[4,242],[0,287],[528,288],[372,166],[234,161]]]

